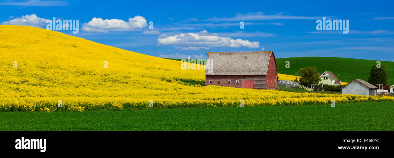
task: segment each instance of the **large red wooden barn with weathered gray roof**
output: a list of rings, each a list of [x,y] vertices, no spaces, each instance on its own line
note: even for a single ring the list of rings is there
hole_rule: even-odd
[[[277,67],[272,51],[207,52],[205,85],[276,90]],[[208,70],[210,69],[210,70]]]

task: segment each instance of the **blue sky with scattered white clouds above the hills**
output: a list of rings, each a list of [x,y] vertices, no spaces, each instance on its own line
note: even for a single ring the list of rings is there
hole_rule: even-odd
[[[274,51],[275,57],[394,61],[392,1],[0,1],[0,23],[60,31],[156,57],[206,59],[209,51]],[[316,20],[349,20],[349,33],[318,31]],[[244,29],[240,22],[244,22]],[[153,22],[153,29],[149,28]]]

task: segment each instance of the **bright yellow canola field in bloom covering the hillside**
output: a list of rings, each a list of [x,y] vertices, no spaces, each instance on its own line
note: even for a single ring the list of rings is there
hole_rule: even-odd
[[[15,61],[15,62],[14,62]],[[104,68],[104,61],[108,68]],[[16,67],[16,68],[13,68]],[[0,25],[0,111],[84,111],[394,101],[204,85],[204,70],[29,26]],[[61,100],[62,107],[59,107]]]

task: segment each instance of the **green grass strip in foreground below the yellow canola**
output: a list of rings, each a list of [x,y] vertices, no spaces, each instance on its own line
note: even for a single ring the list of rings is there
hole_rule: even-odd
[[[176,110],[6,112],[0,130],[394,130],[392,102]]]

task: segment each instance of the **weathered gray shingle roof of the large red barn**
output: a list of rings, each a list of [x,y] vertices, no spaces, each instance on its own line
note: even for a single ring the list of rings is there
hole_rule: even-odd
[[[205,75],[267,75],[272,51],[206,52],[213,72]]]

